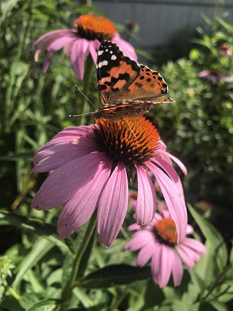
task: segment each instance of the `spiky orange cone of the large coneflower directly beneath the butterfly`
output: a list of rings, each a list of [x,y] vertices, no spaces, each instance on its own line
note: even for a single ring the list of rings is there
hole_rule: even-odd
[[[142,164],[155,156],[155,150],[159,148],[159,133],[145,117],[124,120],[127,124],[122,120],[96,120],[94,134],[99,150],[108,154],[115,162]]]

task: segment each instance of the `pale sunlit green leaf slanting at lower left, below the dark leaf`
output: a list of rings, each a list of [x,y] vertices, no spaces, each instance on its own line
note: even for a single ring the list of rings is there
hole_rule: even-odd
[[[19,267],[19,271],[16,275],[16,278],[12,284],[13,288],[16,288],[17,285],[21,282],[24,277],[24,274],[32,269],[34,265],[41,259],[45,254],[47,254],[54,244],[43,237],[38,237],[33,244],[31,251],[28,253],[26,258],[23,260]]]

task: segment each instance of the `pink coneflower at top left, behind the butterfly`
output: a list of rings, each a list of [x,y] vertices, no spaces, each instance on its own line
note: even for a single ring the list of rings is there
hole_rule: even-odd
[[[46,73],[54,52],[64,48],[64,52],[70,56],[71,67],[76,78],[83,80],[85,56],[91,54],[93,62],[96,64],[97,50],[104,40],[115,42],[122,52],[133,60],[137,60],[133,46],[120,38],[116,27],[109,19],[92,14],[83,15],[75,20],[74,27],[74,29],[50,31],[33,43],[33,47],[40,44],[35,51],[36,62],[42,52],[48,52],[44,60],[43,74]]]

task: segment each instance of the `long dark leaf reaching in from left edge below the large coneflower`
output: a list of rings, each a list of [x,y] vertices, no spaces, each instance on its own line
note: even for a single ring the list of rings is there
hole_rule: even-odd
[[[8,225],[16,225],[17,227],[21,227],[23,229],[26,229],[28,231],[32,231],[36,233],[37,235],[42,235],[45,239],[48,241],[52,242],[54,245],[59,247],[59,249],[63,253],[69,253],[70,256],[72,256],[71,251],[67,247],[67,245],[56,238],[56,229],[52,225],[44,224],[41,225],[38,223],[38,220],[33,220],[29,217],[19,215],[19,214],[14,214],[14,213],[9,213],[5,210],[0,210],[0,224],[2,225],[1,222],[8,222]],[[3,223],[5,225],[5,223]]]

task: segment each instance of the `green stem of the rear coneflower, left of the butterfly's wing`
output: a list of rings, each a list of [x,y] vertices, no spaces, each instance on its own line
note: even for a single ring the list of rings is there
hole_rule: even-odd
[[[89,95],[90,84],[91,84],[90,82],[91,82],[93,69],[94,69],[94,63],[93,63],[92,57],[91,55],[88,55],[86,59],[85,73],[84,73],[84,78],[83,78],[83,94],[85,94],[86,97],[88,97]],[[83,104],[81,106],[81,112],[80,112],[81,115],[86,112],[87,104],[89,104],[88,100],[84,97]],[[79,120],[80,120],[79,125],[83,124],[85,120],[85,116],[81,116]]]

